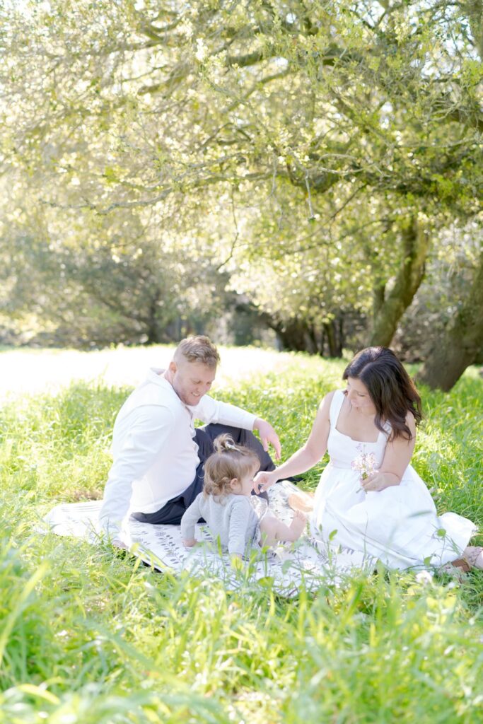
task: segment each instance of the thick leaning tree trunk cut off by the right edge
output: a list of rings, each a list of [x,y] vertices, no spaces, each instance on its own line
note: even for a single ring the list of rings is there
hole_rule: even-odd
[[[469,295],[445,332],[434,342],[416,376],[433,390],[448,392],[466,367],[479,358],[483,345],[483,253]]]

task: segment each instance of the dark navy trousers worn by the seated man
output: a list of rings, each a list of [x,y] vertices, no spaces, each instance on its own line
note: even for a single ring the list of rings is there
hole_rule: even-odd
[[[213,441],[215,437],[218,437],[218,435],[224,432],[229,433],[233,440],[238,442],[238,445],[244,445],[256,452],[260,460],[260,470],[269,471],[275,469],[272,458],[268,452],[265,452],[259,439],[256,438],[250,430],[230,427],[229,425],[219,425],[217,423],[198,427],[194,439],[198,445],[198,458],[200,459],[200,463],[196,468],[196,475],[193,482],[184,492],[172,498],[172,500],[168,500],[166,505],[156,510],[156,513],[133,513],[135,519],[141,523],[154,523],[155,525],[159,525],[160,523],[177,525],[177,523],[180,523],[185,510],[190,507],[198,493],[201,493],[203,490],[204,463],[207,458],[209,458],[209,455],[214,452]],[[266,498],[267,495],[266,493],[261,493],[259,497]]]

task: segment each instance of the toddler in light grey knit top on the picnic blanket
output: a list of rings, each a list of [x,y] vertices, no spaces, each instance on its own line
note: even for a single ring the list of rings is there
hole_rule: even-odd
[[[196,544],[195,523],[204,518],[214,539],[219,537],[223,550],[242,557],[251,543],[272,545],[277,541],[295,541],[306,524],[306,516],[295,511],[286,526],[267,510],[266,501],[252,496],[253,476],[260,461],[248,447],[235,445],[230,435],[214,441],[216,452],[205,463],[203,492],[191,503],[181,519],[181,535],[186,547]]]

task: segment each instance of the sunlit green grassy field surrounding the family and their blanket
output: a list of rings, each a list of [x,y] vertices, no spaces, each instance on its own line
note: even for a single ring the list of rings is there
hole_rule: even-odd
[[[344,362],[266,355],[213,394],[272,421],[285,458]],[[483,722],[483,572],[381,570],[287,600],[36,533],[57,502],[101,496],[129,384],[77,380],[1,411],[0,723]],[[483,528],[483,380],[423,401],[414,465],[440,513]]]

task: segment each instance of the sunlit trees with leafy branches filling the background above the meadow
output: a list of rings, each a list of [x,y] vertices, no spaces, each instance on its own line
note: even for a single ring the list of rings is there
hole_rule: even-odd
[[[483,0],[14,0],[4,340],[482,360]]]

